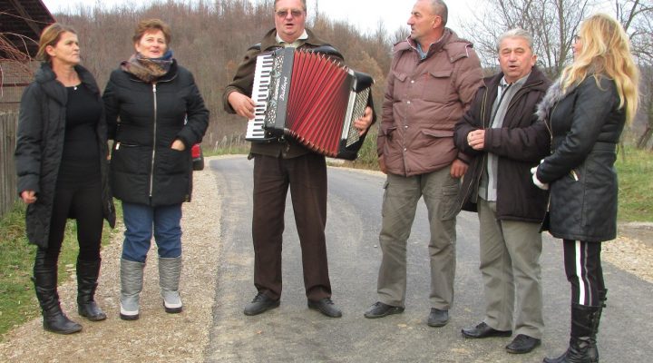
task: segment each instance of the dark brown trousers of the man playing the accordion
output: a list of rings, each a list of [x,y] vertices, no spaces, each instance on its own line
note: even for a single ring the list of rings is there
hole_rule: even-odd
[[[292,159],[254,155],[254,285],[270,299],[281,297],[288,186],[301,244],[307,298],[330,298],[325,238],[327,163],[324,156],[312,152]]]

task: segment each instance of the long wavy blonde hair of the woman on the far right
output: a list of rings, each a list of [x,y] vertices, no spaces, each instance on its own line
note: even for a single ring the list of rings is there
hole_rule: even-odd
[[[619,93],[619,108],[626,107],[626,121],[637,113],[639,72],[630,53],[629,37],[610,15],[596,14],[580,25],[582,49],[574,62],[560,75],[563,91],[582,82],[590,73],[597,84],[604,74],[614,80]]]

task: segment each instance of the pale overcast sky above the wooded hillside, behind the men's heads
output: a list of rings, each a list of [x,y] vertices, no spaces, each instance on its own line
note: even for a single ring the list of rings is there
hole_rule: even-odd
[[[133,0],[42,0],[50,12],[55,14],[67,12],[68,10],[78,8],[79,5],[93,6],[101,4],[102,7],[111,7],[114,5],[133,6]],[[165,0],[146,0],[141,3],[148,4],[152,1]],[[189,1],[189,0],[184,0]],[[256,3],[256,0],[249,0]],[[307,0],[308,15],[315,12],[315,5],[322,14],[326,14],[331,19],[346,20],[350,24],[356,25],[363,32],[374,32],[379,20],[382,20],[385,29],[394,33],[396,29],[405,25],[413,8],[412,0]],[[450,0],[447,2],[449,7],[449,24],[448,26],[457,30],[462,17],[470,13],[471,5],[481,3],[479,0]],[[161,16],[164,18],[165,16]]]

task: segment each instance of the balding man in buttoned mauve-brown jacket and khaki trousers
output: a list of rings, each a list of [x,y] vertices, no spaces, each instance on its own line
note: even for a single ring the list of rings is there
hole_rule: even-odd
[[[453,145],[453,126],[481,86],[482,70],[472,44],[446,28],[446,21],[443,1],[418,0],[408,19],[410,37],[393,49],[377,140],[379,166],[387,174],[379,236],[383,258],[378,301],[365,318],[404,311],[406,240],[424,196],[431,224],[428,325],[442,327],[449,320],[456,237],[455,216],[444,213],[467,169]]]

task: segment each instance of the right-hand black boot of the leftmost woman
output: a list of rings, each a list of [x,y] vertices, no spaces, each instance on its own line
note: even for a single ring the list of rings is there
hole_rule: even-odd
[[[100,275],[100,261],[77,259],[77,312],[91,321],[106,319],[106,314],[93,300]]]

